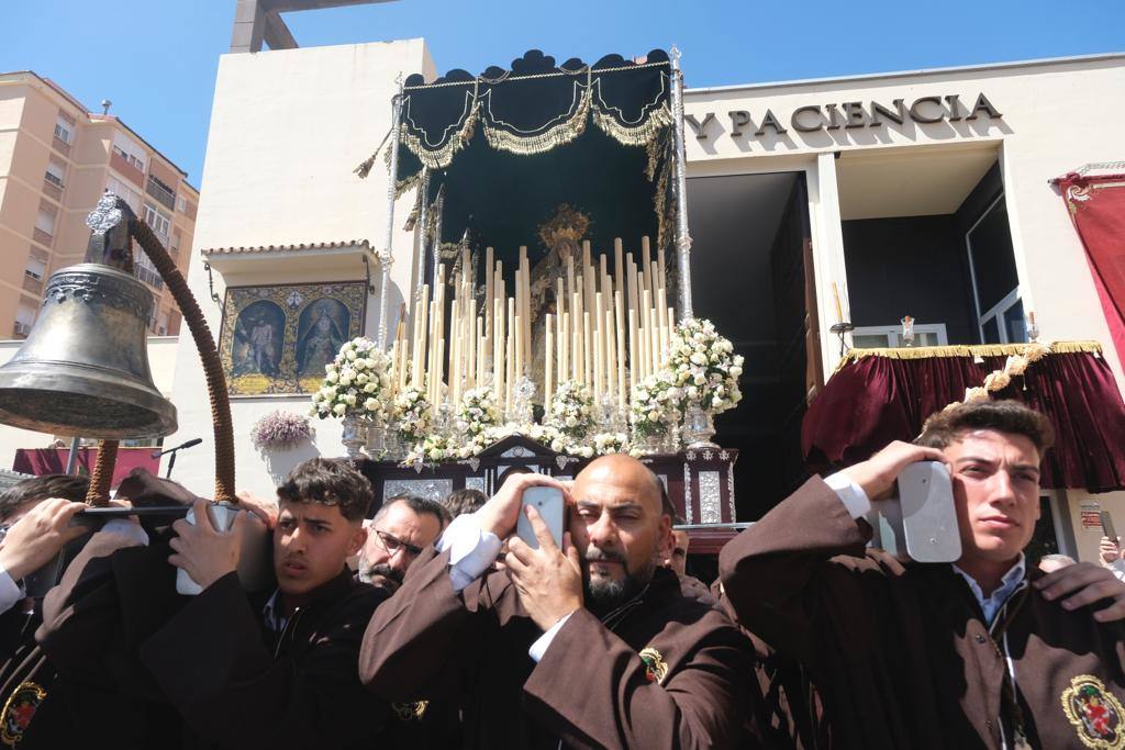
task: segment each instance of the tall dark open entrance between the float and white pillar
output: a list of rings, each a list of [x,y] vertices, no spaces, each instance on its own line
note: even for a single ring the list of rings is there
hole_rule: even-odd
[[[800,432],[822,382],[804,175],[692,178],[692,298],[746,358],[742,401],[716,418],[716,442],[739,450],[739,521],[753,521],[803,479]]]

